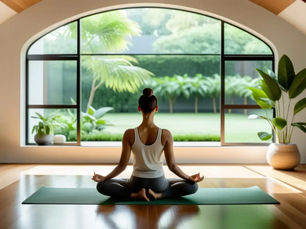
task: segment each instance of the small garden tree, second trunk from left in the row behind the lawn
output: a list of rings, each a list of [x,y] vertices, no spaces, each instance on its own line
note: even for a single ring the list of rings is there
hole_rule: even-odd
[[[207,85],[202,74],[196,74],[193,78],[188,78],[186,82],[190,94],[195,96],[194,110],[198,113],[198,97],[204,97],[207,94]]]

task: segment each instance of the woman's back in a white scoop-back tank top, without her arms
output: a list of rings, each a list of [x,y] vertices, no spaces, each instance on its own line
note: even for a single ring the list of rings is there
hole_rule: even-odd
[[[164,175],[162,168],[162,129],[140,125],[134,129],[132,145],[133,176],[157,178]]]

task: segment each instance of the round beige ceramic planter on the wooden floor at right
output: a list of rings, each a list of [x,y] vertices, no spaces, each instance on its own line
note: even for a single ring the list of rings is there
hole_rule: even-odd
[[[300,164],[300,151],[296,144],[272,143],[267,151],[267,161],[274,169],[294,169]]]

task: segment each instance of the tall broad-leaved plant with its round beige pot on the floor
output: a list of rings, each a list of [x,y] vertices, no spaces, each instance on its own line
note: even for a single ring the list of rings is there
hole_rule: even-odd
[[[278,143],[272,143],[267,151],[267,161],[275,169],[294,169],[300,164],[300,152],[296,144],[290,144],[293,128],[297,127],[306,133],[306,122],[293,122],[295,115],[306,107],[306,98],[299,100],[294,107],[292,99],[299,96],[306,88],[306,69],[295,74],[293,64],[284,55],[278,63],[278,76],[272,71],[256,69],[262,76],[260,89],[249,87],[253,99],[263,109],[275,108],[276,117],[259,116],[269,122]],[[284,97],[288,96],[289,104],[284,106]],[[282,107],[280,107],[282,104]],[[292,110],[293,107],[293,110]],[[288,118],[289,114],[292,117]],[[261,140],[269,140],[272,134],[259,132]]]

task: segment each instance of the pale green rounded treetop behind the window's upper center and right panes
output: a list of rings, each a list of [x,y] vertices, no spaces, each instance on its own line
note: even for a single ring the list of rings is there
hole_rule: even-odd
[[[185,23],[188,24],[188,21]],[[272,54],[271,49],[255,36],[230,24],[225,24],[224,30],[225,54]],[[220,23],[203,23],[183,27],[173,31],[171,35],[160,36],[152,47],[155,53],[220,54],[220,39]]]

